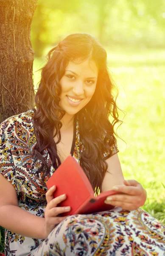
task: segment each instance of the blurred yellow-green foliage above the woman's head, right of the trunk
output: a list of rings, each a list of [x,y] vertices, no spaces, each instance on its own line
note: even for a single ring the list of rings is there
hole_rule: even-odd
[[[31,41],[36,57],[75,32],[107,47],[164,47],[164,28],[164,0],[38,0]]]

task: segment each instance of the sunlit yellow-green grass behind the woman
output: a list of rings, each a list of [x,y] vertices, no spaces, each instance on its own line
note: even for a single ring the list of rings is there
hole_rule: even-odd
[[[117,130],[126,179],[147,190],[142,207],[165,224],[165,49],[109,49],[108,64],[119,89],[118,106],[127,112]],[[34,60],[34,71],[45,59]],[[34,87],[39,73],[34,73]],[[4,241],[0,244],[3,247]]]

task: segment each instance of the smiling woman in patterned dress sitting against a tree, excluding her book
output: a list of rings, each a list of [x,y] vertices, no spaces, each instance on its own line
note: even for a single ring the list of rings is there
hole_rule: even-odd
[[[2,122],[0,225],[7,256],[165,255],[164,227],[139,209],[145,189],[123,178],[113,89],[103,47],[91,35],[69,35],[48,53],[36,110]],[[66,195],[53,199],[56,187],[47,191],[45,183],[70,153],[96,194],[120,192],[105,201],[114,209],[60,216],[70,210],[58,207]]]

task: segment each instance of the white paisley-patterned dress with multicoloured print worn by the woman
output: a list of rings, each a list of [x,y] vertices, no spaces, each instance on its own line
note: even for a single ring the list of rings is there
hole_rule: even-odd
[[[11,116],[0,125],[0,173],[14,186],[19,207],[44,217],[47,191],[34,176],[41,166],[34,159],[36,136],[34,111]],[[79,126],[74,125],[71,154],[80,161]],[[118,152],[117,144],[111,147]],[[103,157],[108,157],[104,152]],[[43,156],[51,164],[47,148]],[[12,215],[11,215],[12,216]],[[47,239],[5,233],[6,256],[165,256],[165,227],[142,209],[134,211],[119,207],[90,215],[72,215],[59,223]]]

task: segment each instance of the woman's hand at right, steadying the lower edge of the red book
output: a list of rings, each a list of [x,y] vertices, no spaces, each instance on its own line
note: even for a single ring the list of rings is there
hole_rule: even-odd
[[[124,180],[123,183],[123,185],[117,185],[112,188],[119,194],[107,197],[104,202],[129,211],[143,206],[147,198],[147,193],[143,186],[136,180]]]

